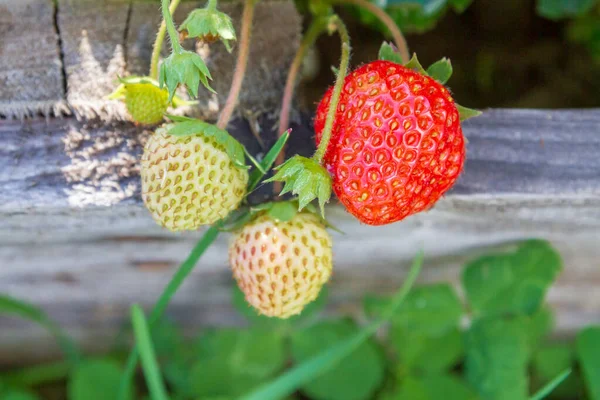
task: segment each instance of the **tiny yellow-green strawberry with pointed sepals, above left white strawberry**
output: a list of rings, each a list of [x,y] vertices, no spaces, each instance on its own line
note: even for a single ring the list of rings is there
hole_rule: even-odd
[[[162,122],[169,106],[169,92],[161,89],[158,82],[148,77],[121,78],[121,85],[109,96],[109,99],[125,101],[131,118],[139,124],[154,125]],[[177,96],[173,106],[195,104]]]

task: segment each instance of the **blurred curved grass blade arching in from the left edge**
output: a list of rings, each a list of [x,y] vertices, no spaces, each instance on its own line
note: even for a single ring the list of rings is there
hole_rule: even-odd
[[[81,359],[81,353],[73,340],[38,307],[6,295],[0,295],[0,314],[14,315],[43,326],[56,338],[71,364],[75,364]]]

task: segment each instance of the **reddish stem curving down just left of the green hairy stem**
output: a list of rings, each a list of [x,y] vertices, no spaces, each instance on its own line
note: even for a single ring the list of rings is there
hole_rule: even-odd
[[[316,18],[308,30],[302,38],[302,42],[300,43],[300,47],[298,47],[298,51],[294,56],[294,60],[292,61],[292,65],[290,66],[290,70],[288,72],[287,80],[285,82],[285,89],[283,91],[283,99],[281,100],[281,112],[279,113],[279,132],[278,137],[281,137],[285,131],[288,130],[290,125],[290,109],[292,107],[292,98],[294,96],[294,88],[296,87],[296,80],[298,77],[298,73],[300,72],[300,68],[302,67],[302,61],[306,56],[306,52],[317,40],[321,32],[327,27],[328,18]],[[285,159],[285,152],[282,151],[277,156],[277,160],[275,161],[275,165],[280,165],[283,163]],[[278,183],[278,182],[276,182]],[[278,190],[277,192],[280,192]]]

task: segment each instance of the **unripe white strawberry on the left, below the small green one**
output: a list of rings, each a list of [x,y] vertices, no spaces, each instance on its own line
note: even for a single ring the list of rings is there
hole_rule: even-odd
[[[172,231],[224,218],[246,193],[248,171],[210,136],[177,137],[158,129],[141,160],[142,198],[154,220]]]

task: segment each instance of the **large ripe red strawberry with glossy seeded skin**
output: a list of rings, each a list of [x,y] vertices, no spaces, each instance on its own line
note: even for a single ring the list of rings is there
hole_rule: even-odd
[[[317,144],[332,89],[317,109]],[[324,164],[346,209],[369,225],[431,207],[465,160],[459,113],[434,79],[390,61],[346,77]]]

